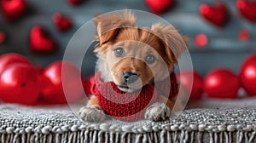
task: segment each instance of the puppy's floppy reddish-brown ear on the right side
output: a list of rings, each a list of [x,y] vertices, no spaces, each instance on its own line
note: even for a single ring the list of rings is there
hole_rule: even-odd
[[[182,37],[172,25],[163,25],[161,23],[154,24],[151,31],[164,42],[166,54],[172,64],[177,62],[177,59],[187,49],[188,37]]]

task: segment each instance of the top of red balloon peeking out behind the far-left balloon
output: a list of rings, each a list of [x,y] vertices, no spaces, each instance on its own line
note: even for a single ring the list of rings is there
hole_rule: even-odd
[[[29,60],[26,59],[25,56],[21,54],[8,53],[0,56],[0,74],[10,65],[15,63],[23,63],[26,65],[32,65]]]

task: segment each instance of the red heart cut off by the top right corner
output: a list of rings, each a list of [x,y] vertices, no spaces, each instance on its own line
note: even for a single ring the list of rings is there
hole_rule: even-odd
[[[256,20],[256,1],[245,1],[245,0],[237,0],[236,7],[239,9],[240,13],[250,21]]]

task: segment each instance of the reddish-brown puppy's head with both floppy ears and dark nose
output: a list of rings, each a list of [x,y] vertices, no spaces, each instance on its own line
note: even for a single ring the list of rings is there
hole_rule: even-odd
[[[95,21],[99,41],[95,52],[102,80],[113,81],[125,92],[168,77],[186,49],[172,25],[137,27],[135,21],[128,11],[98,15]]]

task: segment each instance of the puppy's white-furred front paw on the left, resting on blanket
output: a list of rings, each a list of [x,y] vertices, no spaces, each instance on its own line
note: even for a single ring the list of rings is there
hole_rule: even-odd
[[[102,122],[105,120],[106,114],[98,106],[83,106],[79,111],[79,117],[86,122]]]

